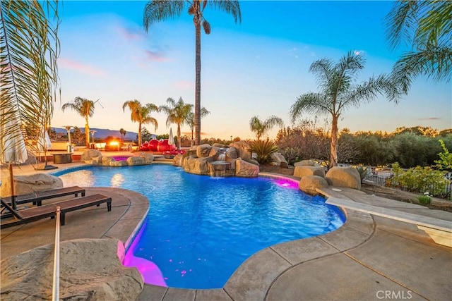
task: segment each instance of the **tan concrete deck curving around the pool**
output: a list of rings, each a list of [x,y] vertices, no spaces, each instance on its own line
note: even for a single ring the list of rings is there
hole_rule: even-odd
[[[61,170],[80,162],[52,165]],[[14,174],[35,173],[27,166],[21,168],[15,168]],[[323,193],[452,225],[452,214],[447,211],[341,190]],[[87,195],[97,192],[112,197],[112,211],[101,205],[67,214],[61,240],[118,238],[126,242],[136,231],[148,210],[148,199],[119,188],[87,188]],[[347,222],[338,230],[261,250],[239,266],[221,289],[145,285],[138,300],[452,300],[452,248],[437,245],[411,223],[345,211]],[[53,241],[51,219],[6,228],[1,230],[1,257]]]

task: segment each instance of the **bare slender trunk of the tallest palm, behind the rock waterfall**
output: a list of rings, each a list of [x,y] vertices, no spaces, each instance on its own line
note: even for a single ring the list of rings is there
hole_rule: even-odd
[[[196,47],[195,47],[195,145],[201,142],[201,18],[195,24]]]

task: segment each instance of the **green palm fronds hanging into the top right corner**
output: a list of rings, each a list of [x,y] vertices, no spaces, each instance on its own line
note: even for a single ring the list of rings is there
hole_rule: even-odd
[[[452,1],[397,1],[386,16],[392,48],[412,45],[393,67],[393,76],[408,92],[417,75],[434,80],[452,78]]]

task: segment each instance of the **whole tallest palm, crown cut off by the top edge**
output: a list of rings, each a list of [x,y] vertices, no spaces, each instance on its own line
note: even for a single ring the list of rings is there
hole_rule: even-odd
[[[209,6],[218,8],[234,17],[234,22],[242,22],[239,1],[190,0],[190,1],[149,1],[144,8],[143,25],[148,32],[150,25],[157,21],[181,16],[188,6],[188,12],[193,16],[195,26],[195,144],[201,141],[201,27],[206,35],[210,34],[210,23],[204,18],[204,9]]]

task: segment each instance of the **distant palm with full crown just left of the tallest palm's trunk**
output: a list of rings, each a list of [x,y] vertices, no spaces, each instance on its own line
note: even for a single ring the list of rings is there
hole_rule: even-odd
[[[162,111],[167,114],[167,126],[171,123],[177,124],[177,149],[181,149],[181,125],[184,125],[187,121],[187,117],[193,108],[193,104],[186,104],[182,97],[179,98],[178,102],[175,102],[174,99],[169,97],[167,99],[167,105],[159,106],[159,111]]]

